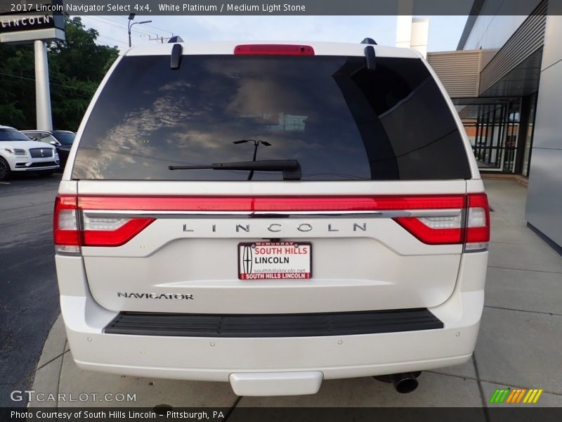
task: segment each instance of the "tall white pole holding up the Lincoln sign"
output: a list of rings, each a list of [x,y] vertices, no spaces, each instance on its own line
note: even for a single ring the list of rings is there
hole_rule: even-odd
[[[48,84],[47,44],[37,40],[35,44],[35,105],[39,130],[53,130],[51,116],[51,91]]]

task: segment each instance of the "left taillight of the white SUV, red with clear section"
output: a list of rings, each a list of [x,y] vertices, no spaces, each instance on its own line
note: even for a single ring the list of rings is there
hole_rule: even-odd
[[[141,233],[153,218],[97,218],[81,214],[77,196],[55,200],[53,236],[57,252],[77,253],[80,246],[120,246]],[[79,224],[79,218],[81,223]]]

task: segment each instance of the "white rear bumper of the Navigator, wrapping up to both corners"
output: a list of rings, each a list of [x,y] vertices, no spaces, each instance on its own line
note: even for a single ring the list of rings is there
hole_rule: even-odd
[[[116,312],[97,305],[81,280],[67,284],[61,272],[83,269],[81,258],[57,256],[60,305],[67,338],[77,365],[83,369],[131,376],[242,383],[256,374],[265,394],[295,394],[291,383],[279,388],[282,374],[295,380],[313,374],[310,385],[323,379],[353,378],[422,371],[462,364],[476,344],[484,304],[488,252],[466,254],[452,296],[429,309],[444,328],[391,333],[282,338],[180,337],[110,334],[103,330]],[[63,270],[64,267],[64,271]],[[69,272],[70,271],[70,272]],[[67,293],[67,294],[65,294]],[[274,390],[263,389],[268,373]],[[300,374],[300,375],[299,375]],[[307,375],[308,374],[308,375]],[[240,376],[238,376],[240,375]],[[251,377],[250,377],[251,378]],[[240,381],[242,380],[242,381]],[[319,384],[318,384],[319,385]],[[301,394],[313,393],[308,390]]]

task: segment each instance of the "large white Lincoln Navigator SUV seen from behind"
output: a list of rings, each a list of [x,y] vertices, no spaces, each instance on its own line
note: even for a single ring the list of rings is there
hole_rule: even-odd
[[[410,49],[131,49],[86,112],[55,204],[78,366],[313,394],[461,364],[488,200],[455,108]]]

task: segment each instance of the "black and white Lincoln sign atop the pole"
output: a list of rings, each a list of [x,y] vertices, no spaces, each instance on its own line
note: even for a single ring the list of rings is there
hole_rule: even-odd
[[[48,12],[56,10],[54,6],[58,4],[61,4],[60,0],[43,0],[32,5],[34,7],[27,4],[25,11],[16,8],[16,13],[4,4],[0,7],[0,42],[65,39],[64,16]]]

